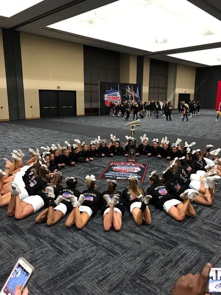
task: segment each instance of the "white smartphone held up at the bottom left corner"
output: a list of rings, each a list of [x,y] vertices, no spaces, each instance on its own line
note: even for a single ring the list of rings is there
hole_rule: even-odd
[[[27,260],[23,257],[19,257],[0,295],[14,295],[17,285],[22,285],[23,290],[34,270],[34,267]]]

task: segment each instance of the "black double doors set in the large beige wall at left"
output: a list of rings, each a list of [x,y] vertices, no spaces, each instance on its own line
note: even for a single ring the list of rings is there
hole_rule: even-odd
[[[40,117],[76,116],[76,91],[39,90]]]

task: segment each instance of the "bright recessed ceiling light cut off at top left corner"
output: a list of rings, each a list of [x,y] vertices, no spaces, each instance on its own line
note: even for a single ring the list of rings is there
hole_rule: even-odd
[[[7,0],[0,1],[0,15],[11,17],[44,0]]]

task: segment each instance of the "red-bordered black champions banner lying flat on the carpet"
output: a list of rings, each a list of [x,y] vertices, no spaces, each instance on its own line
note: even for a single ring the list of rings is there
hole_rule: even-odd
[[[116,181],[128,182],[130,175],[138,177],[139,183],[144,182],[148,163],[129,163],[111,161],[104,171],[98,176],[98,179],[113,179]]]

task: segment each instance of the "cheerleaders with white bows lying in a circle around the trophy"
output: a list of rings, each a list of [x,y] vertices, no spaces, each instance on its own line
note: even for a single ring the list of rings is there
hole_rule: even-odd
[[[210,151],[213,146],[207,145],[202,154],[200,149],[192,150],[195,142],[185,142],[182,148],[179,138],[170,145],[165,137],[161,143],[154,138],[150,146],[146,134],[140,138],[141,144],[133,146],[137,156],[155,156],[170,161],[161,177],[156,171],[151,172],[146,193],[135,175],[129,177],[128,186],[123,192],[117,190],[115,180],[107,180],[107,189],[99,192],[94,175],[85,177],[87,188],[83,192],[77,189],[76,177],[66,177],[66,186],[62,186],[63,176],[59,170],[65,165],[93,161],[95,157],[128,156],[128,142],[123,148],[120,140],[111,134],[108,146],[106,140],[98,137],[91,141],[89,148],[85,142],[77,139],[72,146],[65,141],[64,147],[59,144],[41,147],[44,150],[41,154],[38,149],[29,149],[32,156],[25,166],[23,152],[13,150],[12,162],[4,158],[5,171],[0,170],[0,207],[8,206],[8,216],[14,216],[17,220],[44,208],[35,222],[46,222],[48,226],[53,226],[68,213],[65,226],[75,225],[77,229],[82,229],[101,208],[104,230],[109,231],[113,226],[119,231],[125,206],[137,225],[150,225],[148,204],[165,210],[178,221],[185,216],[196,216],[191,202],[205,206],[213,204],[215,183],[221,176],[220,148]],[[209,159],[209,155],[212,159]]]

